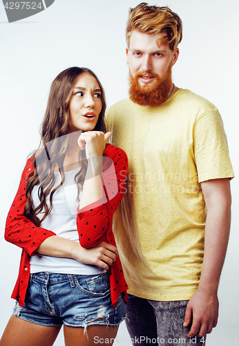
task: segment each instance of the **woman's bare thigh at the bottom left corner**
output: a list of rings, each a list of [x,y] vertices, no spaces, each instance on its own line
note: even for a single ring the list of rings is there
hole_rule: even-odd
[[[0,340],[0,346],[52,346],[61,326],[46,327],[12,316]]]

